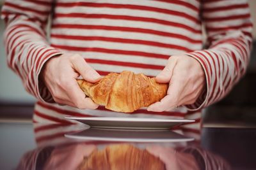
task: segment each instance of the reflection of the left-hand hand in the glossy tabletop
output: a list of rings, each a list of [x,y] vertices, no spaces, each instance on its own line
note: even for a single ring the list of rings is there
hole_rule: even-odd
[[[44,169],[75,170],[81,164],[84,157],[88,157],[94,150],[95,145],[74,144],[55,148]]]

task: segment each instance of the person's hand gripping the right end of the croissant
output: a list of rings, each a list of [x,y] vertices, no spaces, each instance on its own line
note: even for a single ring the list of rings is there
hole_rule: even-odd
[[[172,56],[163,71],[156,76],[159,83],[169,83],[167,95],[148,106],[148,111],[168,111],[177,106],[195,103],[205,88],[205,73],[196,59]]]

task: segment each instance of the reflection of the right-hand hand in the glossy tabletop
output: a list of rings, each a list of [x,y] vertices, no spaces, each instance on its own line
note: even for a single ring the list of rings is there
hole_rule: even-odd
[[[177,152],[173,148],[157,145],[148,146],[146,150],[155,157],[159,157],[164,162],[166,170],[200,170],[195,158],[189,153]]]

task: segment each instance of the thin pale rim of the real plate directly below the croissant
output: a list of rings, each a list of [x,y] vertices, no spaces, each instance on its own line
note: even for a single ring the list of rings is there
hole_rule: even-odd
[[[161,119],[161,118],[141,118],[141,117],[65,117],[69,120],[90,120],[90,121],[112,121],[112,122],[182,122],[191,123],[191,119]],[[120,120],[123,118],[124,120]]]

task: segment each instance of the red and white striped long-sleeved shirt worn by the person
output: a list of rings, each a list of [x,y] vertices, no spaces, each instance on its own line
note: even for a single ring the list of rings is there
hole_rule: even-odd
[[[48,43],[43,30],[50,13]],[[243,0],[7,0],[2,18],[7,24],[8,65],[39,100],[35,122],[67,122],[66,115],[186,117],[196,119],[188,127],[198,129],[200,110],[224,97],[244,74],[252,43],[250,13]],[[202,22],[207,50],[202,50]],[[38,74],[48,59],[63,52],[80,53],[102,75],[129,70],[148,76],[156,76],[168,57],[186,53],[204,67],[207,90],[195,104],[163,113],[77,110],[43,103],[51,94],[38,87]]]

